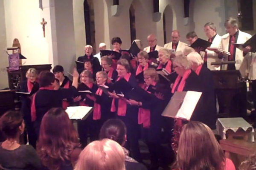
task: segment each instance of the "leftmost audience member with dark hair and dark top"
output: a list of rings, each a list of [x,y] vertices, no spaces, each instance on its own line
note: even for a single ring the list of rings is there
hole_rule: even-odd
[[[0,169],[5,170],[38,170],[41,161],[31,145],[20,144],[20,134],[25,128],[22,114],[8,111],[0,118],[0,129],[6,136],[0,142]]]

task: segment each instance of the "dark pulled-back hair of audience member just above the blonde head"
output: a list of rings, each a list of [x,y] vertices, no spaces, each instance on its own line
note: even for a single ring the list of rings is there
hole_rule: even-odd
[[[126,135],[126,126],[125,123],[120,119],[108,119],[101,127],[99,132],[99,138],[112,139],[118,142],[120,145],[125,140]]]

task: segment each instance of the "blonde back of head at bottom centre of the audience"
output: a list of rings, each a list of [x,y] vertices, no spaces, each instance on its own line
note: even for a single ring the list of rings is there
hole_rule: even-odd
[[[93,141],[80,153],[75,170],[125,170],[124,150],[110,139]]]

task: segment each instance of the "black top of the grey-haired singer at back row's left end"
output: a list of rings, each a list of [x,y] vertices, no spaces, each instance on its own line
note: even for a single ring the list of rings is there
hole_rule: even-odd
[[[78,57],[77,61],[84,62],[86,59],[89,59],[89,57],[85,54],[84,56]],[[90,61],[93,65],[93,71],[95,72],[95,74],[98,71],[101,71],[101,65],[99,64],[99,59],[97,57],[93,57],[93,55],[90,55]],[[84,70],[84,64],[83,63],[77,63],[77,70],[79,72],[80,71],[82,72]]]

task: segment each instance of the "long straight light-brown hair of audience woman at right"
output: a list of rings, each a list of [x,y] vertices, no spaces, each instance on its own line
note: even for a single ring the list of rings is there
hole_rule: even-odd
[[[183,126],[175,168],[182,170],[223,170],[224,152],[212,130],[201,122]]]

